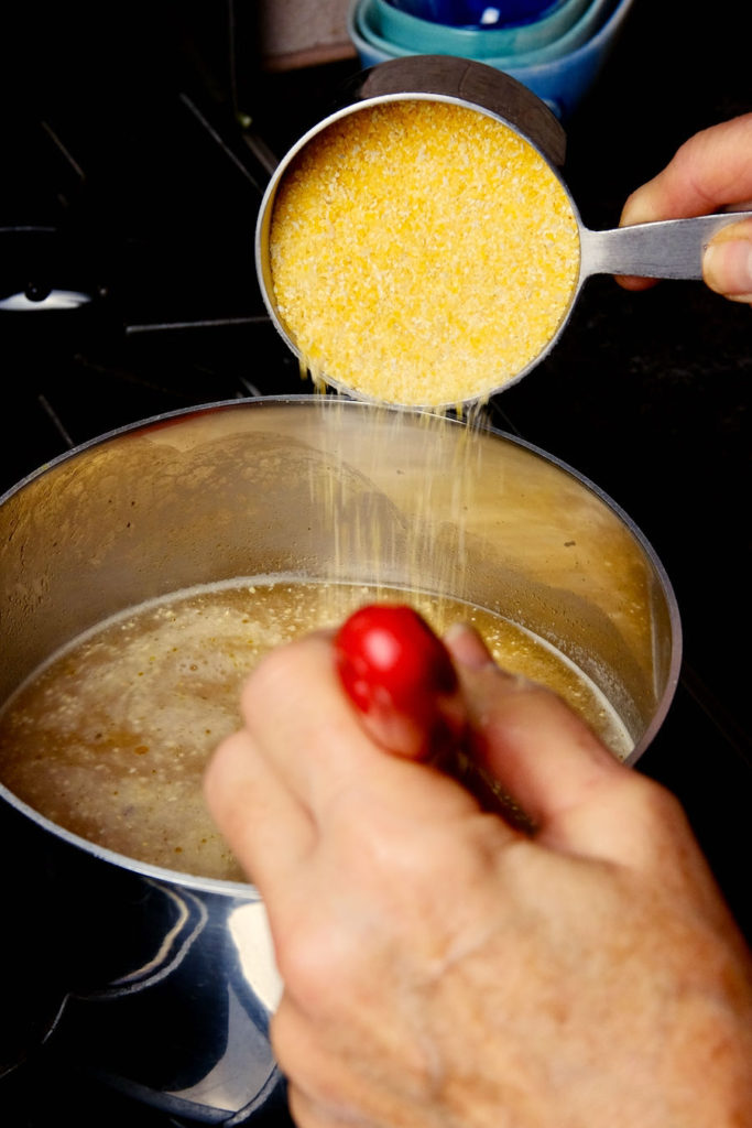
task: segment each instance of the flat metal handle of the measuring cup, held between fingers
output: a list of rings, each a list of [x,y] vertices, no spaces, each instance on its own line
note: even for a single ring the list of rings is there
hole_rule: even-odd
[[[702,252],[729,223],[752,211],[635,223],[607,231],[581,231],[582,275],[632,274],[649,279],[701,279]]]

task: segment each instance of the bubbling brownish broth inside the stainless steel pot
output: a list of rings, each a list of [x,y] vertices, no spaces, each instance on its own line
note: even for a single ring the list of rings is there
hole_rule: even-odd
[[[266,576],[144,603],[55,654],[0,714],[0,781],[108,849],[245,880],[202,794],[209,757],[238,728],[242,681],[273,647],[384,598],[408,601],[440,633],[472,623],[505,669],[558,691],[616,756],[631,750],[592,681],[498,615],[443,596]]]

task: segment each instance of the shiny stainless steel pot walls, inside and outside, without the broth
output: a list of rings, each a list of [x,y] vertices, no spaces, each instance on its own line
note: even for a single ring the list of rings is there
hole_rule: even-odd
[[[596,486],[497,431],[338,397],[161,416],[11,490],[0,500],[0,702],[118,610],[269,573],[419,576],[508,616],[595,681],[630,733],[629,763],[671,704],[681,629],[670,581]],[[274,1108],[283,1082],[267,1024],[280,982],[254,887],[134,862],[0,792],[26,893],[25,915],[10,905],[6,919],[28,934],[18,953],[55,962],[52,1037],[177,1113],[230,1122]]]

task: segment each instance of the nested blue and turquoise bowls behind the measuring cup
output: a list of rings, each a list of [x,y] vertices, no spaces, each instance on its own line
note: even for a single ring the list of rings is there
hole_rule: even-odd
[[[634,0],[352,0],[363,67],[404,55],[476,59],[568,117],[598,77]]]

